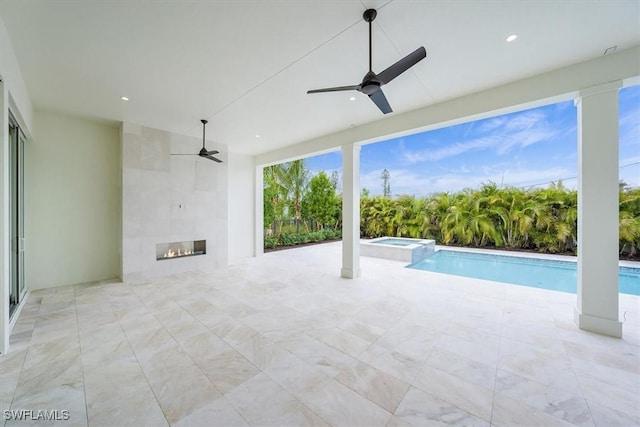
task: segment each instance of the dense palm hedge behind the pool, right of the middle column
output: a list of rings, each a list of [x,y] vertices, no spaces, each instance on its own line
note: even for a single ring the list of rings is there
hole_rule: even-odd
[[[429,197],[361,199],[363,237],[435,239],[439,244],[574,254],[578,196],[561,183],[544,189],[498,188]],[[639,257],[640,189],[620,186],[620,256]]]

